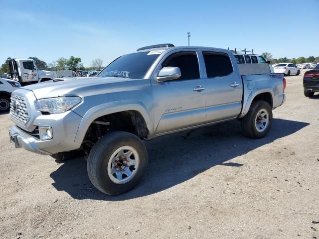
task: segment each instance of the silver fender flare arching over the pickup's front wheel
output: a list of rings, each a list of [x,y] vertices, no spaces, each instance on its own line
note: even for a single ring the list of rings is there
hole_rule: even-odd
[[[106,115],[123,112],[123,111],[139,112],[144,118],[146,125],[148,127],[148,130],[150,132],[153,131],[152,121],[149,117],[147,108],[142,102],[137,100],[109,102],[109,103],[97,105],[85,113],[78,127],[74,141],[80,144],[83,142],[83,139],[85,137],[85,134],[89,126],[95,119],[101,116],[106,116]]]

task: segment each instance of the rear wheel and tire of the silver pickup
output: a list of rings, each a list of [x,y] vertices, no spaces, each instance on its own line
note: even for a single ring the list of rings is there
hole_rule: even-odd
[[[271,128],[273,119],[272,108],[266,101],[254,101],[241,120],[244,135],[250,138],[265,137]]]

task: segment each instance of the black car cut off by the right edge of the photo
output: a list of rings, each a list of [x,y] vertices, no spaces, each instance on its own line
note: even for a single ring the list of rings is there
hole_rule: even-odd
[[[315,92],[319,92],[319,65],[314,70],[305,72],[303,83],[306,97],[311,97]]]

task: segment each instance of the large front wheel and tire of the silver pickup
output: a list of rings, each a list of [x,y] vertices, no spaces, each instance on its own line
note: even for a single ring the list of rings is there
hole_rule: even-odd
[[[148,154],[142,140],[129,132],[110,132],[93,146],[87,163],[92,184],[101,192],[119,195],[143,178]]]

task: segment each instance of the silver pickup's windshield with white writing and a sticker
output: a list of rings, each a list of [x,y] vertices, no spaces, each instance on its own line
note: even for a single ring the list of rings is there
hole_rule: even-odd
[[[144,51],[124,55],[113,61],[98,76],[142,79],[163,51]]]

